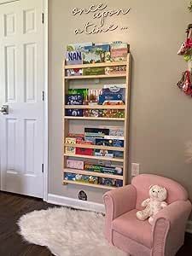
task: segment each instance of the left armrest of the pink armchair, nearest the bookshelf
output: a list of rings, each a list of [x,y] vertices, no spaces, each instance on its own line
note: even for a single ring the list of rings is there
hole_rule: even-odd
[[[136,207],[136,197],[137,190],[133,185],[108,191],[103,195],[106,215],[110,214],[111,220],[113,220],[125,212],[131,211]]]

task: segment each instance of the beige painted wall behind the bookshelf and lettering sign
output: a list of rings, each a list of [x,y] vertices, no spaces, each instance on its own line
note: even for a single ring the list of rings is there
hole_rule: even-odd
[[[49,0],[49,193],[77,198],[80,187],[61,185],[62,82],[61,64],[68,43],[122,40],[131,44],[131,162],[141,172],[172,177],[189,189],[192,165],[186,163],[185,143],[192,140],[192,99],[177,89],[187,67],[177,50],[191,21],[188,0],[105,1],[112,8],[131,7],[115,18],[128,32],[74,35],[83,22],[70,15],[73,7],[98,1]],[[84,188],[90,201],[102,202],[104,190]]]

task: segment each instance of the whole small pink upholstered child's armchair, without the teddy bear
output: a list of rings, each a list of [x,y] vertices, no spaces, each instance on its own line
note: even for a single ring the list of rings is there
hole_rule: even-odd
[[[168,191],[165,207],[154,218],[140,221],[136,212],[148,198],[151,184]],[[114,189],[103,196],[106,207],[105,236],[115,247],[133,256],[173,256],[183,245],[185,226],[191,212],[187,191],[166,177],[142,174],[131,185]]]

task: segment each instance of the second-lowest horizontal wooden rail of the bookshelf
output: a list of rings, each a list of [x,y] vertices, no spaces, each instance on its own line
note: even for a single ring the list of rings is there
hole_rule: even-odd
[[[70,169],[70,168],[64,168],[63,172],[77,173],[81,175],[96,176],[96,177],[109,177],[109,178],[114,178],[119,180],[124,179],[124,177],[121,175],[113,175],[113,174],[102,173],[102,172],[89,172],[86,170],[77,170],[77,169]]]

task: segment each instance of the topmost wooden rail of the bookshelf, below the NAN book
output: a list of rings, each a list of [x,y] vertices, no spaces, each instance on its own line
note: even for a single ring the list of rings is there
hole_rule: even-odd
[[[64,69],[86,68],[86,67],[115,67],[115,66],[126,66],[126,65],[127,65],[127,61],[102,62],[102,63],[78,64],[78,65],[64,64]]]

